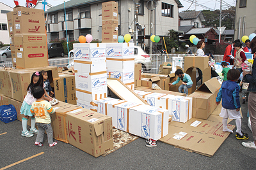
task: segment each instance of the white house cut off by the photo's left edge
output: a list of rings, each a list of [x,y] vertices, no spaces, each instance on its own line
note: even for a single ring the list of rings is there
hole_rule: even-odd
[[[6,13],[13,11],[13,8],[0,2],[0,10],[0,41],[4,44],[10,44]]]

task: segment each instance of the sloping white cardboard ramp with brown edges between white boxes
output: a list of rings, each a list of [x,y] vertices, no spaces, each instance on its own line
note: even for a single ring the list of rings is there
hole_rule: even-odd
[[[129,89],[122,81],[116,78],[108,78],[108,88],[120,99],[124,101],[132,101],[138,104],[147,104],[148,103],[142,99],[138,94]]]

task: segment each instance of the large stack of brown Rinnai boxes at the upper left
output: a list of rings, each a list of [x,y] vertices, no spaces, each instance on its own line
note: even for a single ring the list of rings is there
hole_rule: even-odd
[[[48,66],[44,10],[18,6],[7,18],[13,67]]]

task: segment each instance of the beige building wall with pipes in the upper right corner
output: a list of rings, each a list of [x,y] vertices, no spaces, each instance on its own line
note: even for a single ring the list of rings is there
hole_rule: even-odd
[[[255,1],[236,1],[236,24],[234,39],[241,39],[243,36],[250,36],[250,34],[256,33],[255,9]]]

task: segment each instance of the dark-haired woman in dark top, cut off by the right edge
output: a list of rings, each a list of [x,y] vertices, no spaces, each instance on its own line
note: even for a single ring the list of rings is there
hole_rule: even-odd
[[[252,53],[256,52],[256,37],[252,39],[250,43],[250,48],[252,49]],[[255,60],[255,55],[254,55]],[[252,65],[252,74],[247,71],[243,71],[243,81],[249,83],[248,91],[250,92],[248,97],[248,110],[252,125],[252,135],[253,141],[248,141],[248,143],[243,142],[242,145],[248,148],[255,148],[256,149],[256,61],[253,62]]]

